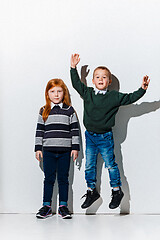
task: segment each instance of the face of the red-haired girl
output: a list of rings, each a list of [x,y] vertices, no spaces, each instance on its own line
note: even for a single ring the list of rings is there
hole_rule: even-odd
[[[64,92],[61,87],[53,87],[48,91],[48,96],[54,104],[61,103],[63,100]]]

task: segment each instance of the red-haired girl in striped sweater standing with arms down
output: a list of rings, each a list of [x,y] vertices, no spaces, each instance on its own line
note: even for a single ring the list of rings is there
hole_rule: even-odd
[[[46,105],[40,109],[36,138],[36,159],[43,157],[44,189],[43,207],[37,218],[52,216],[51,201],[56,178],[59,187],[58,214],[62,218],[71,218],[67,208],[68,175],[70,157],[78,157],[79,129],[75,111],[70,103],[69,92],[61,79],[52,79],[45,90]]]

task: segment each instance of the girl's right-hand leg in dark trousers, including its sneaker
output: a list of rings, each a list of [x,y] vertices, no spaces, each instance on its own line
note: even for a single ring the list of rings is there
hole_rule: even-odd
[[[57,164],[57,179],[59,187],[59,209],[58,213],[62,218],[71,218],[67,207],[68,202],[68,176],[70,167],[71,152],[59,153]]]

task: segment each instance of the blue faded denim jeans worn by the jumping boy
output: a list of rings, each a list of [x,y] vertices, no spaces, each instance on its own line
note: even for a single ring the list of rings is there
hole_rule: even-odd
[[[108,168],[110,186],[121,186],[118,165],[115,162],[114,140],[112,131],[103,134],[85,132],[86,138],[86,165],[85,179],[87,187],[95,188],[97,173],[97,155],[101,154],[105,167]]]

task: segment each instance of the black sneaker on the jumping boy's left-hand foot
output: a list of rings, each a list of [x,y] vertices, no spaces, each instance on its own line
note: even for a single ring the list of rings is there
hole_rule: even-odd
[[[81,205],[81,208],[88,208],[100,197],[100,195],[97,192],[96,188],[94,188],[92,191],[87,190],[87,193],[82,196],[82,198],[83,197],[86,197],[86,200]]]

